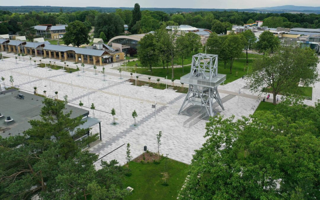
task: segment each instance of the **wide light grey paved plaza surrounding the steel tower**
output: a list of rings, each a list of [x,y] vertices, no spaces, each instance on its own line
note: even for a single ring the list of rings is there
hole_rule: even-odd
[[[70,74],[61,70],[30,66],[29,60],[18,59],[16,64],[15,59],[7,58],[5,61],[0,61],[0,76],[4,76],[5,84],[9,85],[9,76],[12,75],[14,85],[29,92],[33,92],[33,87],[36,86],[40,94],[46,90],[47,95],[53,96],[54,92],[58,91],[58,98],[61,100],[67,94],[69,102],[76,104],[72,105],[77,107],[80,100],[84,103],[84,107],[90,107],[91,103],[94,103],[97,109],[94,111],[95,118],[102,121],[102,141],[91,147],[90,151],[98,153],[99,157],[109,153],[103,157],[104,161],[116,159],[120,164],[124,164],[126,146],[120,146],[126,143],[131,144],[133,157],[139,156],[145,145],[148,146],[149,151],[156,152],[156,134],[162,131],[160,153],[169,154],[172,159],[190,163],[194,150],[200,148],[205,141],[203,135],[206,121],[201,120],[190,128],[183,126],[183,122],[189,117],[177,113],[186,94],[128,84],[125,80],[130,77],[130,73],[124,72],[124,78],[120,79],[111,66],[108,67],[106,81],[104,81],[101,73],[95,74],[94,70],[88,68],[85,72]],[[141,75],[141,77],[144,76]],[[238,119],[254,112],[259,105],[256,101],[258,96],[247,89],[243,90],[244,85],[244,80],[238,79],[219,86],[221,98],[230,94],[232,97],[226,98],[228,100],[223,103],[224,111],[219,106],[216,107],[221,115],[226,117],[235,115]],[[241,93],[238,96],[239,89],[241,92],[244,91],[244,94]],[[319,91],[320,84],[317,83],[313,100],[306,100],[308,105],[314,105],[314,101],[320,98]],[[157,102],[156,119],[155,110],[151,108],[155,101]],[[254,109],[251,109],[252,106],[255,106]],[[108,113],[112,108],[116,110],[116,125],[112,124],[113,118]],[[90,110],[90,108],[84,109]],[[134,109],[138,114],[137,126],[133,126],[132,111]],[[90,116],[92,113],[90,110]],[[99,132],[99,126],[93,127],[92,132]],[[110,153],[111,151],[113,152]],[[100,161],[95,164],[97,168],[100,167]]]

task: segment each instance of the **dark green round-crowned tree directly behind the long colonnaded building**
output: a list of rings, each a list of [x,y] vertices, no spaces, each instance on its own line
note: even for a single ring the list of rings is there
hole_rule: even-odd
[[[64,44],[79,47],[81,44],[89,44],[89,30],[81,21],[73,21],[66,27],[67,33],[63,35]]]

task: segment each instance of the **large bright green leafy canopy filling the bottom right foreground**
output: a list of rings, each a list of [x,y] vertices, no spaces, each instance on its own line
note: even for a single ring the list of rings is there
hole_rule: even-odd
[[[317,199],[319,113],[288,98],[251,118],[210,118],[179,199]]]

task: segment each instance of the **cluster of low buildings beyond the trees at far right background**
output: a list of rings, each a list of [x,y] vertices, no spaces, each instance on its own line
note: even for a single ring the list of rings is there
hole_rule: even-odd
[[[270,31],[280,39],[283,45],[302,44],[302,47],[310,47],[316,53],[320,53],[320,28],[268,28],[262,26],[262,23],[262,21],[256,21],[256,23],[245,24],[244,26],[233,25],[232,30],[227,31],[227,35],[232,31],[239,34],[246,30],[251,30],[259,40],[261,33]]]

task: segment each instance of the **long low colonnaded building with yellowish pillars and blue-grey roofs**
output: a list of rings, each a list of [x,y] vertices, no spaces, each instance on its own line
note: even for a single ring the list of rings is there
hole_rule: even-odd
[[[73,61],[102,66],[104,63],[124,60],[124,52],[119,52],[104,44],[100,38],[94,38],[92,46],[79,48],[66,45],[54,45],[44,38],[35,38],[27,42],[25,36],[17,36],[10,40],[9,35],[0,35],[1,51],[20,53],[43,58],[54,58],[64,61]]]

